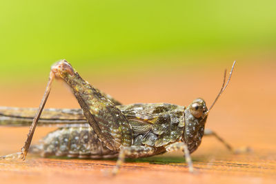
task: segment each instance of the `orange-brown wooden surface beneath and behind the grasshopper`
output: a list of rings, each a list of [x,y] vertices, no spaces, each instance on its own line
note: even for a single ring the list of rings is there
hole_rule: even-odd
[[[26,161],[0,161],[0,183],[276,183],[275,68],[275,64],[237,65],[229,88],[207,120],[206,127],[234,147],[250,146],[252,153],[235,155],[215,138],[204,137],[199,149],[192,154],[195,174],[188,173],[182,154],[177,152],[128,160],[116,177],[104,176],[104,171],[114,167],[115,160],[43,159],[29,155]],[[115,79],[98,80],[94,85],[122,99],[123,103],[188,105],[201,96],[210,105],[221,85],[222,72],[223,68],[171,74],[170,78],[160,75],[146,76],[147,79],[133,77],[127,81],[116,79],[121,80],[119,83]],[[190,74],[196,77],[189,78]],[[185,85],[171,81],[179,77]],[[88,81],[92,83],[93,79]],[[137,83],[141,84],[139,88]],[[3,88],[1,105],[37,107],[45,85]],[[17,95],[19,91],[21,96]],[[76,100],[71,99],[70,92],[55,83],[47,107],[77,107]],[[34,142],[54,129],[39,127]],[[0,127],[0,154],[19,152],[27,133],[28,127]]]

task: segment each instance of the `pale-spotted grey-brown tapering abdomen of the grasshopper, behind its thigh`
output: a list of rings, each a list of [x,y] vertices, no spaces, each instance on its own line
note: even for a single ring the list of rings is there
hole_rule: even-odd
[[[118,153],[109,150],[92,127],[62,127],[50,132],[31,152],[41,156],[68,156],[76,158],[114,158]]]

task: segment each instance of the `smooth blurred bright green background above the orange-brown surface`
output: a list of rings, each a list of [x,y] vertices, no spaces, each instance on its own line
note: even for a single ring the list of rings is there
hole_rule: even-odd
[[[263,55],[271,62],[275,8],[273,0],[2,0],[1,83],[45,79],[59,59],[101,76]]]

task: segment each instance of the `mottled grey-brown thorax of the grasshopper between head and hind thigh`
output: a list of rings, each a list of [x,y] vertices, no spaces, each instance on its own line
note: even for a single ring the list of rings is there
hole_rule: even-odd
[[[132,145],[161,147],[181,139],[184,132],[184,106],[135,103],[117,107],[126,115],[132,127]]]

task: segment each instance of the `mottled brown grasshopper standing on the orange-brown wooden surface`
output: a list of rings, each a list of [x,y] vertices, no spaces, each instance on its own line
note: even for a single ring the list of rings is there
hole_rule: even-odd
[[[58,61],[51,67],[38,109],[0,108],[0,125],[30,125],[21,152],[2,156],[1,159],[25,160],[29,148],[30,152],[42,156],[91,159],[117,157],[116,166],[112,170],[113,174],[117,174],[126,157],[140,158],[182,150],[188,170],[193,172],[190,154],[197,150],[204,135],[215,136],[228,150],[233,151],[220,136],[212,130],[204,130],[204,127],[208,113],[230,81],[234,65],[235,61],[227,82],[225,70],[221,90],[208,110],[204,99],[200,98],[188,107],[169,103],[122,105],[83,80],[68,61]],[[43,111],[54,79],[62,79],[67,83],[81,109]],[[30,147],[38,121],[39,125],[57,125],[59,129]]]

